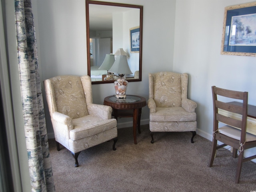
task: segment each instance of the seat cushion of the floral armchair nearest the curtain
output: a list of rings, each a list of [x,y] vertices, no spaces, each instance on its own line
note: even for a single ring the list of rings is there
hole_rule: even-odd
[[[78,140],[104,132],[116,126],[116,119],[101,119],[87,115],[72,120],[74,129],[70,130],[70,139]]]

